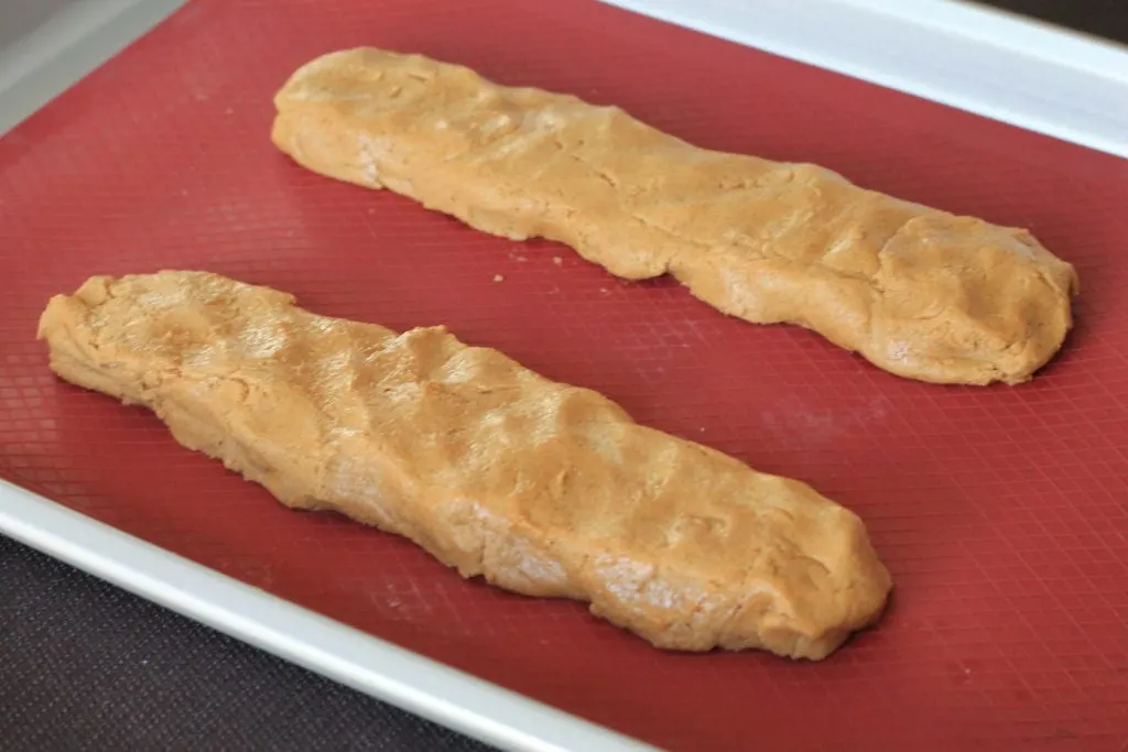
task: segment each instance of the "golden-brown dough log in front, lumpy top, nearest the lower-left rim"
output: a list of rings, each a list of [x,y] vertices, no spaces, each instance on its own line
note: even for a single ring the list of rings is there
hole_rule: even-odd
[[[39,337],[63,379],[151,408],[282,503],[406,536],[465,577],[590,601],[659,647],[822,658],[891,586],[861,520],[809,486],[439,327],[397,335],[161,272],[54,297]]]

